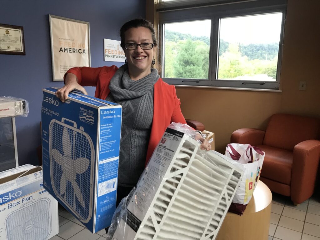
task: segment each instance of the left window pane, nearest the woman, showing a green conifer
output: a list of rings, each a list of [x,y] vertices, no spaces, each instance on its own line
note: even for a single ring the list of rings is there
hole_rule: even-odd
[[[211,20],[167,23],[164,77],[208,79]]]

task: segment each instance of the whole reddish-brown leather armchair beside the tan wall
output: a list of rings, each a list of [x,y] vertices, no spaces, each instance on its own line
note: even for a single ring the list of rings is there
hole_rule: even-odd
[[[275,114],[266,131],[242,128],[231,143],[251,144],[266,153],[260,180],[271,191],[291,196],[295,205],[314,191],[320,158],[320,121],[317,118]]]

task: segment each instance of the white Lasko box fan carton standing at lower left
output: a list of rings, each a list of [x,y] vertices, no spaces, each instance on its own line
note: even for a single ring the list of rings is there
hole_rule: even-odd
[[[58,202],[43,188],[41,167],[0,172],[0,240],[48,240],[59,233]]]

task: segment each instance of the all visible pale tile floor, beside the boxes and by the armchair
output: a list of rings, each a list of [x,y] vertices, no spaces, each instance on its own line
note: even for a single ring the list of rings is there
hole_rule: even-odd
[[[272,193],[269,240],[320,240],[320,201],[311,197],[294,206],[289,197]],[[59,234],[50,240],[105,240],[106,232],[92,234],[59,205]]]

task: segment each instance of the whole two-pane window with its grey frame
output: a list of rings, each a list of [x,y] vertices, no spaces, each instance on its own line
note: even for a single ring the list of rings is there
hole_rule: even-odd
[[[159,12],[164,81],[279,89],[285,7],[260,0]]]

